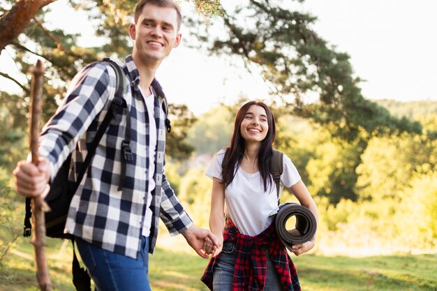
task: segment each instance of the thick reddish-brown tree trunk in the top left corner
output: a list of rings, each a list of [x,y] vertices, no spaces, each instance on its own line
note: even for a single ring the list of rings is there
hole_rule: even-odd
[[[0,18],[0,52],[26,29],[35,14],[56,0],[20,0]]]

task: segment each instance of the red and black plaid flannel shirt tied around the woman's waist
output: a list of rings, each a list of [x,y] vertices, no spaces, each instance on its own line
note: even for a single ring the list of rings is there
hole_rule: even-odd
[[[281,281],[282,291],[301,291],[295,264],[292,262],[286,248],[281,244],[274,223],[255,237],[249,237],[239,232],[228,218],[223,230],[223,244],[231,242],[237,248],[232,291],[262,291],[265,287],[267,263],[265,249],[269,252],[276,273]],[[209,290],[212,290],[212,277],[217,257],[209,260],[207,269],[201,280]]]

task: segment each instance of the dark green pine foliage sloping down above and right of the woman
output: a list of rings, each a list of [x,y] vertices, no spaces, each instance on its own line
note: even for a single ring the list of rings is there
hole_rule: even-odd
[[[384,107],[366,100],[348,54],[328,47],[311,29],[316,17],[292,10],[290,3],[239,1],[233,11],[223,10],[219,25],[224,25],[227,33],[218,37],[203,33],[212,42],[209,50],[236,54],[258,64],[274,87],[272,93],[289,110],[323,124],[343,140],[363,138],[363,132],[420,133],[418,122],[392,117]],[[311,92],[318,95],[317,103],[305,102],[305,95]]]

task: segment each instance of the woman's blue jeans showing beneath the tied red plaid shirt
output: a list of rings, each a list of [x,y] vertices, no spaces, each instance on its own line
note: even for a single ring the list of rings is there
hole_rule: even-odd
[[[281,282],[274,269],[274,264],[267,251],[267,275],[265,278],[264,291],[280,291]],[[225,243],[214,266],[212,286],[214,291],[232,291],[232,280],[234,278],[235,260],[237,260],[237,248],[234,244]]]

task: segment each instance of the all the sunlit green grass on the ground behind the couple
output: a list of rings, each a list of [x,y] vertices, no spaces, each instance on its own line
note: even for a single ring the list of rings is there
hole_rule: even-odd
[[[19,239],[0,264],[0,290],[37,291],[34,250]],[[177,242],[177,240],[175,240]],[[71,244],[47,239],[47,258],[55,290],[73,291]],[[388,255],[364,258],[292,256],[304,291],[437,291],[437,255]],[[193,251],[159,247],[150,256],[154,291],[207,291],[200,276],[207,260]]]

